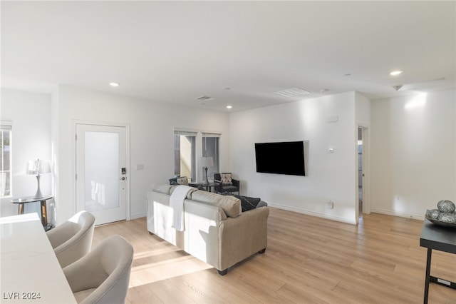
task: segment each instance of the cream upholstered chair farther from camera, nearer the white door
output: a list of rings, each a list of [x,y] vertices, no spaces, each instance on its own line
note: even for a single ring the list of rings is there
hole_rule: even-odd
[[[62,268],[90,251],[94,224],[95,216],[87,211],[81,211],[65,223],[46,232]]]

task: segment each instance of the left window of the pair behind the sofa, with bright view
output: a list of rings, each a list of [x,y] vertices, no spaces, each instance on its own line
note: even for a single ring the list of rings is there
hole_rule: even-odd
[[[174,132],[174,173],[187,176],[189,181],[196,181],[196,132]]]

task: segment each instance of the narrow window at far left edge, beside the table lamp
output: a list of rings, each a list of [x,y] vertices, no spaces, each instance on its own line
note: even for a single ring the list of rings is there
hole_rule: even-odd
[[[0,198],[11,196],[11,124],[0,124]]]

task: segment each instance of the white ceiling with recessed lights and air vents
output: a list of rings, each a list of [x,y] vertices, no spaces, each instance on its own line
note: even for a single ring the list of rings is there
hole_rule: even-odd
[[[217,111],[296,101],[274,94],[296,87],[304,98],[371,99],[455,88],[455,4],[1,1],[1,86],[66,84]]]

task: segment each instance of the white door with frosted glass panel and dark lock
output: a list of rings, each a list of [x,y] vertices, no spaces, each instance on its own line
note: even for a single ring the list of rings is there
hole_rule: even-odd
[[[76,210],[95,225],[127,218],[125,126],[76,124]]]

